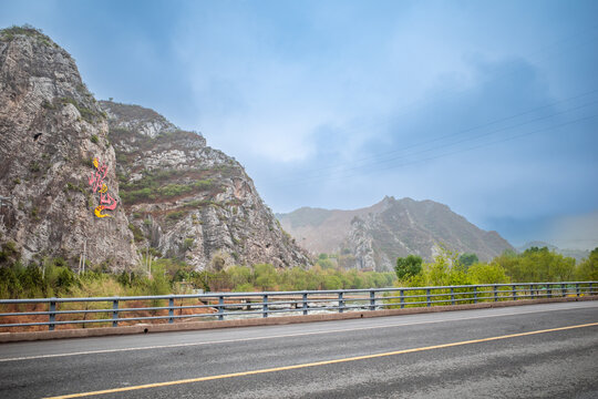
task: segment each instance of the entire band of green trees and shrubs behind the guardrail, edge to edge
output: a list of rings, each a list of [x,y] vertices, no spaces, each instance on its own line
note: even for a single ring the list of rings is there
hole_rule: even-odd
[[[161,258],[153,262],[151,269],[151,275],[141,266],[115,274],[107,265],[90,265],[85,273],[76,274],[62,258],[24,266],[17,259],[16,249],[4,245],[0,252],[0,298],[598,280],[598,248],[579,264],[546,247],[522,254],[505,252],[488,263],[480,262],[474,254],[458,255],[442,248],[429,263],[415,255],[398,258],[394,273],[343,269],[324,254],[309,268],[278,269],[258,264],[198,272],[182,260]]]

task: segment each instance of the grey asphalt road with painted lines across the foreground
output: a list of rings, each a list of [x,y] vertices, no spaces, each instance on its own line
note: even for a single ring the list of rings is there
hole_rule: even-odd
[[[0,398],[73,393],[598,398],[598,301],[0,345]]]

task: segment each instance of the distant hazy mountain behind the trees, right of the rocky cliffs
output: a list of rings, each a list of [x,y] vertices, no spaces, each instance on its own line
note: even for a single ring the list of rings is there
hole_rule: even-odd
[[[431,260],[439,246],[489,260],[511,244],[433,201],[395,200],[354,211],[300,208],[277,215],[282,227],[313,253],[340,254],[347,267],[388,270],[399,256]]]

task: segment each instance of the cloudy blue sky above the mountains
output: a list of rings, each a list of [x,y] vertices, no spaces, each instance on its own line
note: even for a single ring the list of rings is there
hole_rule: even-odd
[[[598,246],[598,1],[6,1],[97,99],[156,110],[275,212],[448,205]]]

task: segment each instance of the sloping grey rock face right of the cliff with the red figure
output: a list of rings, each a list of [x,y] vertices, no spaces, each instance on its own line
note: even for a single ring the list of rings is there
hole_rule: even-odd
[[[234,158],[152,110],[107,101],[101,106],[140,248],[150,246],[198,269],[310,263]]]

